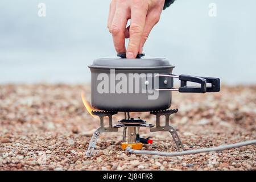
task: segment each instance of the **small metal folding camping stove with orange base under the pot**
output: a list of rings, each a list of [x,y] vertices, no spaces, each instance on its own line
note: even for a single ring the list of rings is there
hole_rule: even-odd
[[[147,123],[141,118],[130,118],[130,113],[125,112],[125,118],[118,121],[117,125],[112,123],[112,115],[117,114],[117,111],[92,111],[93,115],[97,115],[100,118],[100,127],[94,132],[92,139],[90,140],[86,156],[92,156],[96,142],[101,133],[104,132],[117,132],[119,128],[123,127],[123,140],[121,143],[122,150],[126,147],[131,147],[135,150],[141,150],[143,144],[152,144],[153,140],[151,137],[141,138],[139,137],[139,128],[148,127],[151,132],[156,131],[169,131],[174,138],[174,142],[177,146],[177,150],[184,150],[183,144],[177,134],[174,127],[169,125],[170,115],[177,113],[177,109],[168,109],[161,111],[151,111],[150,114],[156,116],[156,125]],[[160,117],[165,116],[165,126],[160,126]],[[104,126],[104,117],[108,117],[109,126]]]

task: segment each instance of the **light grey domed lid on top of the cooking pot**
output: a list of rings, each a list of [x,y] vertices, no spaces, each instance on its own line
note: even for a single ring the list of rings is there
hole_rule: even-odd
[[[137,57],[140,57],[139,55]],[[137,59],[123,59],[121,57],[99,57],[93,61],[89,68],[102,69],[166,69],[174,68],[164,57],[141,57]]]

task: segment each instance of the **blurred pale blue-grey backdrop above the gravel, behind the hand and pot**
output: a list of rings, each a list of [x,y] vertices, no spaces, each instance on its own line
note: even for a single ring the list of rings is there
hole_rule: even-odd
[[[38,4],[46,4],[46,17]],[[113,56],[110,1],[0,1],[0,83],[90,81],[87,65]],[[217,6],[209,16],[209,4]],[[193,0],[164,10],[144,47],[167,57],[175,74],[256,84],[256,1]]]

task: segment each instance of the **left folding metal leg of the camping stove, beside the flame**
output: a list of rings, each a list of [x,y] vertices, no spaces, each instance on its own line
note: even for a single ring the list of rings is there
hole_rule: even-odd
[[[113,127],[112,125],[112,115],[117,114],[115,111],[92,111],[93,115],[97,115],[100,117],[100,123],[101,127],[99,127],[92,136],[92,139],[90,139],[89,147],[86,151],[86,156],[90,157],[93,154],[94,148],[96,146],[96,142],[98,140],[98,137],[100,136],[101,133],[104,132],[117,132],[118,128]],[[109,118],[109,127],[104,126],[104,117]]]

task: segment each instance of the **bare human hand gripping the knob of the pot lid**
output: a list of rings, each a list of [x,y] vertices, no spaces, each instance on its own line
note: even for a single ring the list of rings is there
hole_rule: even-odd
[[[133,59],[142,53],[150,31],[160,19],[163,6],[164,0],[112,0],[108,28],[115,50],[126,52],[125,38],[130,38],[126,57]],[[130,26],[126,27],[129,19]]]

